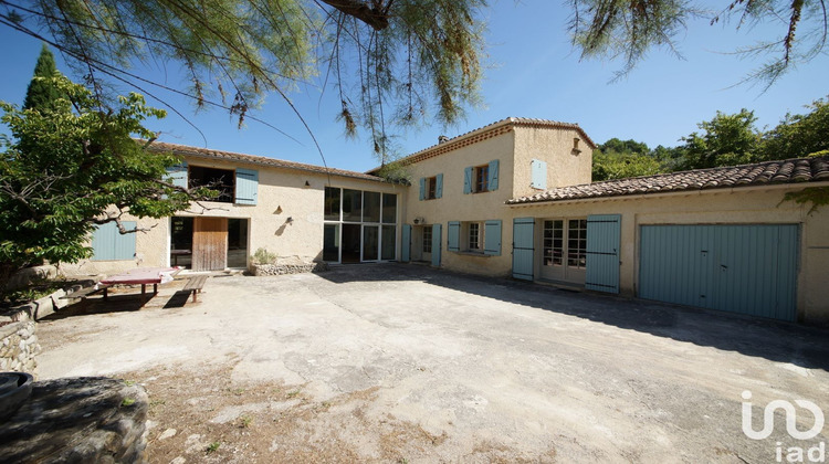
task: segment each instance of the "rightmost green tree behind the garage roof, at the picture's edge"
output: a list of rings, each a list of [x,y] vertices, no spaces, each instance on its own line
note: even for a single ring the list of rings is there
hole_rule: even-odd
[[[763,159],[801,158],[829,150],[829,101],[807,105],[806,115],[786,114],[774,129],[763,136]]]

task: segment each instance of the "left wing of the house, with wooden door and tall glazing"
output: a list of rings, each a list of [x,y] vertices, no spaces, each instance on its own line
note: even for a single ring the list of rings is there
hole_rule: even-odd
[[[151,149],[182,158],[169,170],[174,183],[208,186],[219,196],[172,218],[127,218],[128,228],[146,232],[101,226],[91,239],[94,256],[65,268],[86,274],[168,265],[245,268],[259,249],[329,263],[398,259],[403,186],[363,172],[183,145],[155,143]]]

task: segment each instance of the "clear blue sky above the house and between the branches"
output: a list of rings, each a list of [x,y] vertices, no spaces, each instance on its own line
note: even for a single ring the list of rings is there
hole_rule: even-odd
[[[489,49],[482,94],[485,107],[472,108],[457,126],[426,124],[418,130],[398,134],[401,154],[434,145],[439,135],[450,137],[485,126],[507,116],[535,117],[578,123],[597,143],[618,137],[644,141],[650,147],[675,146],[711,119],[716,110],[736,113],[754,109],[760,127],[773,127],[786,112],[804,113],[804,105],[829,94],[826,75],[829,56],[818,56],[807,65],[762,92],[758,86],[737,85],[760,60],[741,59],[728,52],[768,38],[769,27],[735,31],[730,25],[692,21],[679,39],[683,59],[654,50],[625,80],[610,83],[620,62],[579,61],[566,32],[569,10],[548,0],[492,1],[486,12]],[[40,43],[0,27],[6,63],[0,74],[0,99],[21,104],[34,70]],[[59,67],[67,72],[61,57]],[[168,70],[168,76],[175,70]],[[77,81],[77,76],[73,76]],[[183,85],[175,77],[168,84]],[[319,165],[313,141],[297,118],[277,96],[267,97],[256,117],[282,128],[292,140],[255,122],[241,130],[222,110],[193,114],[188,103],[165,95],[187,114],[207,137],[207,147]],[[367,137],[346,139],[335,122],[335,92],[321,95],[318,88],[292,94],[306,122],[319,140],[328,166],[367,170],[377,165]],[[153,106],[160,105],[149,101]],[[202,136],[178,116],[147,124],[161,130],[160,140],[203,147]]]

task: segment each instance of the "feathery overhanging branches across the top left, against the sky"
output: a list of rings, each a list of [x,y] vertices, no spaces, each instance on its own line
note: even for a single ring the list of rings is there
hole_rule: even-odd
[[[48,41],[96,84],[164,86],[129,71],[175,61],[199,107],[240,125],[267,93],[288,94],[317,74],[339,93],[348,134],[367,127],[378,152],[385,127],[433,116],[457,122],[478,101],[485,0],[65,0],[0,3],[0,23]],[[45,30],[41,33],[41,30]],[[143,93],[150,95],[146,89]],[[292,105],[293,108],[293,105]],[[313,135],[312,135],[313,136]]]

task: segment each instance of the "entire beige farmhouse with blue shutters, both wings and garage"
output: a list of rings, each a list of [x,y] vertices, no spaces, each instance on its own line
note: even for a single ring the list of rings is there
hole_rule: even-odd
[[[783,201],[829,187],[829,158],[591,182],[576,124],[506,118],[403,158],[410,184],[273,158],[156,143],[180,186],[217,201],[149,232],[92,238],[64,267],[245,268],[266,249],[329,264],[420,262],[464,273],[751,316],[829,324],[829,211]]]

